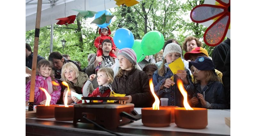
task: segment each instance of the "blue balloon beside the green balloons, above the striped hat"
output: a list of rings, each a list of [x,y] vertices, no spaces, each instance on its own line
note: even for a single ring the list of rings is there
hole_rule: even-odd
[[[132,32],[127,28],[117,29],[113,39],[116,47],[119,49],[132,48],[134,43],[134,36]]]

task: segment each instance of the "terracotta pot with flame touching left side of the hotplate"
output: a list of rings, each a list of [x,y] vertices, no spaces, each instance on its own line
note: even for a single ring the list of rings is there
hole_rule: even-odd
[[[54,118],[60,121],[69,121],[74,118],[74,106],[56,106],[54,111]]]

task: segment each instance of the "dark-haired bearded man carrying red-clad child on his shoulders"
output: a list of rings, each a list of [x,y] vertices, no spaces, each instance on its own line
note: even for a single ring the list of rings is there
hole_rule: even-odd
[[[115,61],[112,57],[109,56],[110,51],[112,50],[112,41],[110,39],[105,39],[102,41],[102,50],[103,50],[103,55],[102,57],[93,57],[90,62],[89,65],[86,67],[85,73],[87,75],[92,75],[92,74],[96,74],[96,71],[100,68],[110,68],[113,64],[115,64]],[[97,70],[96,70],[97,69]],[[93,83],[93,88],[97,88],[98,86],[98,82],[97,82],[97,78],[94,81],[92,81]]]

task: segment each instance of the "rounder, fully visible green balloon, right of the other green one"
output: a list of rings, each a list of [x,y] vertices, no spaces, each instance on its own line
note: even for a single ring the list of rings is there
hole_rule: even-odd
[[[145,55],[154,55],[164,47],[164,36],[158,31],[147,32],[141,40],[141,48]]]

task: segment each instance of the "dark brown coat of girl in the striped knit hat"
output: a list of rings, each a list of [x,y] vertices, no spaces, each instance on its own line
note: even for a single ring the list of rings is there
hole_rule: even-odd
[[[149,90],[148,75],[136,68],[123,72],[122,77],[114,78],[113,91],[126,96],[131,95],[134,107],[152,107],[153,95]]]

